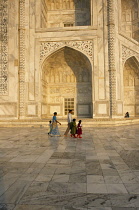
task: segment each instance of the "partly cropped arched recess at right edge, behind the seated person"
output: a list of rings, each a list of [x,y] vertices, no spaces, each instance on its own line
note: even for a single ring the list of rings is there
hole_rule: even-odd
[[[124,64],[124,113],[139,116],[139,62],[132,56]]]

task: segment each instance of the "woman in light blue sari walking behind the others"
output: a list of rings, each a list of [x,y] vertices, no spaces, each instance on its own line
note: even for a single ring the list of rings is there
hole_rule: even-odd
[[[61,123],[57,121],[56,116],[57,116],[57,112],[54,112],[54,116],[52,118],[52,129],[49,133],[50,136],[60,136],[57,123],[59,123],[59,125],[61,125]]]

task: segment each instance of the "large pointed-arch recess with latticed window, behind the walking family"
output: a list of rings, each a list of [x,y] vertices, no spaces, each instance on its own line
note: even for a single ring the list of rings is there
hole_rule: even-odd
[[[69,109],[74,116],[92,117],[92,66],[86,55],[63,47],[42,64],[42,104],[50,117],[58,112],[62,118]]]

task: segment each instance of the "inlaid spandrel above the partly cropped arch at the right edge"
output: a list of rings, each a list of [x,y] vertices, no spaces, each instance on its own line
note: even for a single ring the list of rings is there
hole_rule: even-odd
[[[139,61],[139,53],[131,50],[130,48],[122,45],[122,63],[123,65],[127,61],[128,58],[135,56],[137,60]]]

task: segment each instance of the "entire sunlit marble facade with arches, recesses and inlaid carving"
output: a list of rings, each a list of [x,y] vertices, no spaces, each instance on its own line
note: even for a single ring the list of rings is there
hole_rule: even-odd
[[[1,0],[0,118],[139,116],[139,0]]]

